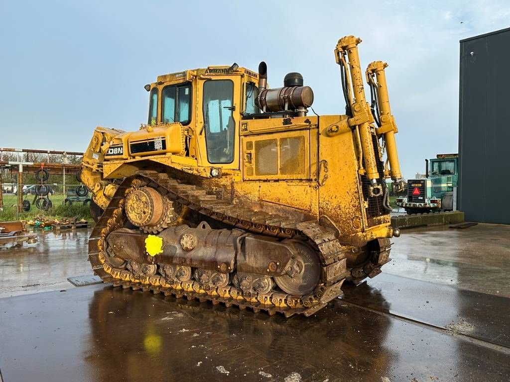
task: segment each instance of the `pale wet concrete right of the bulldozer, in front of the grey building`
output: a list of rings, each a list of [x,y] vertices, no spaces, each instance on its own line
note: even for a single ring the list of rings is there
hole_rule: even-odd
[[[384,272],[510,297],[510,225],[402,230]]]

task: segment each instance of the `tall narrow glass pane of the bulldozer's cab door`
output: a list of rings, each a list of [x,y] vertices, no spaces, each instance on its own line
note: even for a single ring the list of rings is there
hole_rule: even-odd
[[[209,163],[232,163],[236,123],[234,83],[230,79],[208,80],[203,84],[203,122]]]

